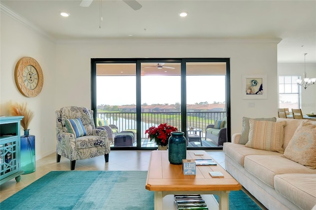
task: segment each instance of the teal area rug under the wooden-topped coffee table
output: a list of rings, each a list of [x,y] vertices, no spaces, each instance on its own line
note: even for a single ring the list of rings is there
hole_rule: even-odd
[[[146,177],[147,171],[53,171],[1,202],[0,209],[154,210]],[[229,197],[230,210],[261,210],[242,190]]]

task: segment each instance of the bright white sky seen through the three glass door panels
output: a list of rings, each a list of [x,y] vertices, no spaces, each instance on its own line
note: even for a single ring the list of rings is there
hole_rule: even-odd
[[[225,102],[225,75],[187,76],[187,104]],[[180,76],[142,76],[142,102],[181,102]],[[97,76],[97,105],[136,104],[136,76]]]

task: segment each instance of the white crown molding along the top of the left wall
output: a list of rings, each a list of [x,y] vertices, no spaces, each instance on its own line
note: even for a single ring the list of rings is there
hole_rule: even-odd
[[[40,27],[36,26],[34,23],[30,22],[29,20],[25,19],[9,7],[7,7],[5,4],[3,4],[0,1],[0,11],[4,14],[8,15],[12,19],[16,20],[17,22],[21,23],[25,27],[33,30],[34,32],[38,33],[41,36],[44,36],[45,38],[49,39],[50,41],[55,42],[56,40],[49,34],[47,34],[45,31],[43,31]]]

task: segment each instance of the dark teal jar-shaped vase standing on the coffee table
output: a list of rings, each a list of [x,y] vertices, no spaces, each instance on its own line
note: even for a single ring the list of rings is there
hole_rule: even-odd
[[[171,132],[168,156],[171,164],[182,164],[182,160],[187,158],[187,140],[183,132]]]

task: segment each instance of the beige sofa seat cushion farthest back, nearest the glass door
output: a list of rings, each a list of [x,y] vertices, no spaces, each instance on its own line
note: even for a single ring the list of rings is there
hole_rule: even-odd
[[[245,147],[243,144],[225,142],[223,146],[223,152],[236,161],[240,166],[243,167],[244,165],[244,158],[247,155],[278,155],[281,156],[282,154],[278,152],[271,152],[266,150],[260,149],[253,149],[249,147]]]

